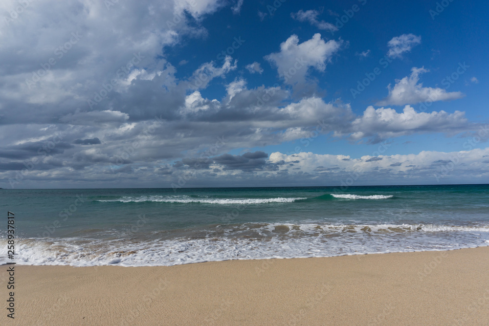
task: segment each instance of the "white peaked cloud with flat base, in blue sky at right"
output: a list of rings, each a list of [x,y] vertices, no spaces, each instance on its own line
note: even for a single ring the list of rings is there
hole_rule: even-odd
[[[391,88],[388,86],[389,95],[376,103],[378,106],[385,105],[405,105],[416,104],[421,102],[451,101],[464,97],[462,92],[447,92],[443,88],[422,87],[418,84],[420,75],[429,70],[413,67],[411,75],[402,79],[396,79],[396,85]]]

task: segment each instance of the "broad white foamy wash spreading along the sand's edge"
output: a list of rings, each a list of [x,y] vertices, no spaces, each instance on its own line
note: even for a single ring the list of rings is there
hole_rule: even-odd
[[[489,225],[247,223],[207,229],[199,239],[16,239],[14,262],[29,265],[171,266],[236,259],[331,257],[489,246]],[[249,236],[249,232],[255,235]],[[438,234],[443,233],[442,236]],[[0,239],[0,263],[7,262]]]

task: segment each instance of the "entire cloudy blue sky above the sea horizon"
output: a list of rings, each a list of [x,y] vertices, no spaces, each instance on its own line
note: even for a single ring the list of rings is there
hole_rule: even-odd
[[[0,187],[489,183],[488,10],[3,0]]]

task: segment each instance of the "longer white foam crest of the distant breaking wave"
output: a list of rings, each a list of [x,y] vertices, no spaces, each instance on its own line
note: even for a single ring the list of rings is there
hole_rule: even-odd
[[[192,198],[189,196],[179,196],[179,197],[170,197],[170,196],[142,196],[142,197],[122,197],[119,199],[112,200],[98,200],[98,201],[119,201],[123,203],[130,202],[163,202],[163,203],[202,203],[202,204],[266,204],[266,203],[291,203],[296,200],[307,199],[305,197],[294,197],[294,198],[236,198],[236,199],[227,199],[227,198]]]

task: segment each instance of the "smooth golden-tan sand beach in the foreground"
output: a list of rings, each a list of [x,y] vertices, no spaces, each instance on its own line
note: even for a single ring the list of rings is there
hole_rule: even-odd
[[[6,306],[6,270],[0,299]],[[171,267],[15,265],[1,325],[489,325],[489,247]]]

